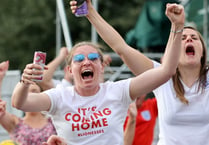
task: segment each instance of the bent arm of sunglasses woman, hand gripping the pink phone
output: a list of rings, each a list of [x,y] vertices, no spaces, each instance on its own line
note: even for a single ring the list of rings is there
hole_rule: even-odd
[[[42,75],[42,67],[38,64],[26,65],[21,81],[15,86],[12,94],[12,106],[24,112],[47,111],[50,108],[50,99],[44,93],[29,93],[30,84],[33,79]]]

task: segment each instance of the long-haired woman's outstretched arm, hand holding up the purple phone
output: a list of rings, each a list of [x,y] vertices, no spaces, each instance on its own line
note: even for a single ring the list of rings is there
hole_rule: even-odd
[[[89,13],[86,17],[96,28],[100,37],[121,57],[134,74],[141,74],[153,67],[148,57],[127,45],[120,34],[97,13],[91,0],[87,0],[87,3]],[[75,13],[76,1],[71,1],[70,5],[72,12]]]

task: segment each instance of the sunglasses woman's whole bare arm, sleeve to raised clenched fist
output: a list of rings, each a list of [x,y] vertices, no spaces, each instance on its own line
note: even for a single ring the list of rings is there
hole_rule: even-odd
[[[153,89],[168,81],[176,73],[185,20],[184,8],[177,4],[167,4],[166,15],[170,19],[172,26],[162,65],[132,79],[130,84],[130,95],[132,99],[151,92]]]

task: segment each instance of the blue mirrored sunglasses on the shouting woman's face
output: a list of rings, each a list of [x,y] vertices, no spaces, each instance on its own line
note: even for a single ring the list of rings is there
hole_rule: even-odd
[[[99,59],[100,55],[98,53],[89,53],[87,55],[88,60],[95,61]],[[77,54],[73,57],[74,62],[82,62],[85,59],[85,55]]]

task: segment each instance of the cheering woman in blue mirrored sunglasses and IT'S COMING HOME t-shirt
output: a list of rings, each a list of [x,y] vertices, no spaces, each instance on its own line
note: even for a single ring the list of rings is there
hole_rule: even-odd
[[[134,78],[101,83],[104,64],[100,46],[81,42],[71,49],[67,60],[74,86],[28,94],[32,80],[43,73],[41,66],[28,64],[14,89],[13,106],[23,111],[46,111],[58,136],[67,144],[123,145],[123,124],[129,104],[165,83],[176,71],[181,47],[181,32],[177,30],[183,28],[184,10],[170,5],[166,14],[175,20],[175,32],[171,33],[165,61],[158,68]]]

